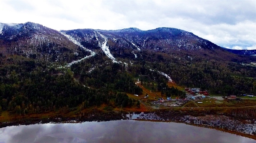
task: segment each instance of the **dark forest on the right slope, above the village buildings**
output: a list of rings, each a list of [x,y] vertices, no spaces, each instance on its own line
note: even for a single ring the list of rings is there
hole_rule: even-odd
[[[237,59],[233,61],[204,58],[197,54],[142,51],[133,63],[141,65],[143,70],[140,73],[144,75],[142,80],[145,81],[152,78],[159,81],[156,78],[161,77],[152,76],[147,68],[168,74],[178,85],[200,87],[213,94],[256,94],[256,67],[244,65]],[[128,71],[133,70],[131,67]]]

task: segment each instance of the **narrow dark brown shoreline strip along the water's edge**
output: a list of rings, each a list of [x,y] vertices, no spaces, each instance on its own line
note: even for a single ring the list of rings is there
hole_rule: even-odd
[[[139,114],[138,114],[139,113]],[[155,116],[153,118],[147,118],[141,116],[140,118],[130,118],[127,117],[127,115],[140,115],[143,113],[143,115],[152,115]],[[217,117],[217,116],[216,116]],[[198,127],[204,127],[209,129],[216,129],[218,131],[222,132],[228,132],[234,135],[240,135],[243,137],[248,137],[250,139],[256,140],[256,135],[250,135],[250,134],[244,134],[241,132],[236,132],[228,129],[218,128],[216,126],[207,126],[206,124],[195,124],[195,123],[188,123],[187,121],[183,121],[180,119],[186,118],[186,115],[177,115],[176,118],[173,119],[164,119],[163,117],[159,117],[156,112],[102,112],[98,115],[91,115],[88,116],[88,118],[82,117],[82,118],[24,118],[20,119],[19,121],[12,121],[12,122],[0,122],[0,128],[8,127],[8,126],[20,126],[20,125],[32,125],[32,124],[44,124],[44,123],[83,123],[83,122],[102,122],[102,121],[118,121],[118,120],[135,120],[135,121],[152,121],[152,122],[175,122],[175,123],[185,123],[187,125],[191,126],[198,126]]]

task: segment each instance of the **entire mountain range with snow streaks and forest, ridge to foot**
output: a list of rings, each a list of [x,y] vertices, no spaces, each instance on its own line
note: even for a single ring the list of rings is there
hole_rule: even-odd
[[[184,98],[184,87],[255,95],[255,63],[256,56],[176,28],[56,31],[1,23],[0,111],[17,119],[49,111],[81,118],[85,110],[98,114],[91,107],[137,109],[161,96]]]

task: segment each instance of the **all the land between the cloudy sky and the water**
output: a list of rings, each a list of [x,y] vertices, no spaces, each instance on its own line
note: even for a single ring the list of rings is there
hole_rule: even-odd
[[[243,96],[256,95],[255,62],[255,56],[230,53],[176,28],[59,32],[32,22],[6,25],[0,33],[0,127],[121,120],[143,112],[154,121],[255,139],[245,128],[255,126],[256,100]]]

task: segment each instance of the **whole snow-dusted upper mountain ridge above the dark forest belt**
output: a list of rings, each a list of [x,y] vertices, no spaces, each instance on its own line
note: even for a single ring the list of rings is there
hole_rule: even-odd
[[[76,43],[61,32],[72,37]],[[225,53],[218,45],[177,28],[162,27],[147,31],[138,28],[56,31],[32,22],[0,23],[0,53],[7,55],[17,54],[51,62],[70,63],[99,51],[112,60],[134,59],[143,50],[163,53],[178,51],[201,55],[211,53],[217,56],[221,55],[219,53]]]

